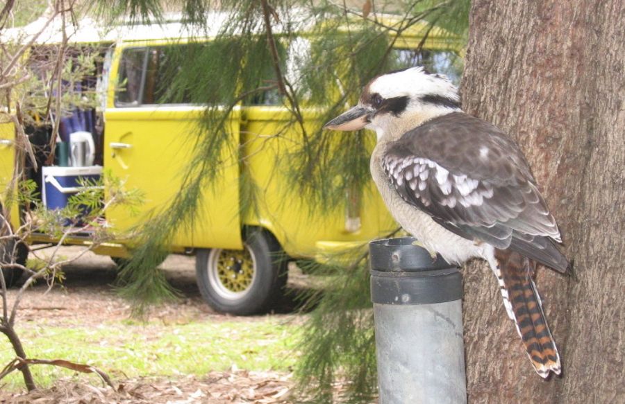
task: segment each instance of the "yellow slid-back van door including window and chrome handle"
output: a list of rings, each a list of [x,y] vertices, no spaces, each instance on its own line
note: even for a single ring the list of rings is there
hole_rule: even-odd
[[[197,137],[197,118],[203,107],[158,104],[159,69],[167,46],[118,48],[110,69],[110,91],[104,128],[104,169],[126,181],[126,188],[144,193],[140,214],[117,208],[106,214],[115,229],[127,231],[149,220],[153,213],[175,203],[185,180]],[[118,87],[119,86],[119,87]],[[117,91],[115,89],[117,88]],[[233,155],[239,145],[239,116],[233,112],[231,141],[224,148],[222,177],[206,186],[192,229],[178,230],[174,247],[242,249],[239,215],[239,166]],[[232,151],[235,150],[235,151]]]

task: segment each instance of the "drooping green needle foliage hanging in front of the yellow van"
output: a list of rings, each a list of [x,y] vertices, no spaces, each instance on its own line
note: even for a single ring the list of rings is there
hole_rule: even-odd
[[[188,147],[194,157],[184,182],[167,209],[154,212],[141,229],[133,260],[122,272],[122,293],[135,299],[140,310],[147,303],[172,296],[163,274],[156,270],[175,231],[190,227],[201,203],[222,167],[224,148],[240,156],[241,209],[253,215],[258,184],[247,171],[244,145],[229,141],[228,117],[238,105],[281,105],[289,119],[272,137],[288,137],[292,147],[278,153],[284,175],[284,200],[306,200],[310,218],[366,197],[369,152],[373,137],[337,136],[324,132],[329,118],[356,103],[360,89],[376,74],[406,64],[433,64],[420,44],[398,50],[397,36],[418,24],[422,35],[433,24],[462,40],[467,29],[469,1],[405,0],[392,3],[301,0],[180,0],[169,8],[181,10],[181,20],[209,42],[178,46],[170,51],[165,71],[167,87],[160,101],[189,100],[208,105]],[[135,21],[162,20],[167,11],[154,0],[101,0],[108,17]],[[385,15],[385,17],[383,17]],[[460,38],[460,39],[458,39]],[[459,60],[459,58],[458,58]],[[459,78],[461,65],[451,64]],[[453,74],[451,76],[454,76]],[[454,77],[452,77],[454,78]],[[346,195],[351,197],[346,198]],[[366,247],[356,261],[333,257],[325,265],[306,261],[308,270],[326,274],[323,292],[302,297],[314,307],[302,342],[297,369],[304,396],[328,402],[332,385],[350,381],[348,401],[367,401],[375,394],[375,355],[372,310],[368,295]],[[349,256],[354,256],[353,252]],[[332,269],[329,271],[328,268]]]

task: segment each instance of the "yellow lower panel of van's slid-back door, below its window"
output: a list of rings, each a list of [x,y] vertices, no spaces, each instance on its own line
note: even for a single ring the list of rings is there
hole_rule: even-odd
[[[124,179],[127,189],[142,190],[145,198],[137,216],[123,207],[107,213],[115,229],[129,231],[155,213],[167,214],[194,153],[194,125],[200,113],[201,107],[190,106],[107,109],[104,166]],[[233,116],[231,134],[233,144],[238,145],[237,116]],[[181,227],[172,240],[174,246],[242,248],[238,159],[224,150],[222,161],[224,175],[215,186],[206,186],[192,228]]]

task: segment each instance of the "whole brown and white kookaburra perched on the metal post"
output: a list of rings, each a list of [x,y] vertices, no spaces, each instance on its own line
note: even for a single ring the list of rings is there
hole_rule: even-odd
[[[462,112],[458,89],[422,67],[374,78],[325,127],[376,131],[371,173],[395,220],[449,263],[485,259],[534,369],[560,374],[532,276],[537,263],[565,272],[568,262],[519,146]]]

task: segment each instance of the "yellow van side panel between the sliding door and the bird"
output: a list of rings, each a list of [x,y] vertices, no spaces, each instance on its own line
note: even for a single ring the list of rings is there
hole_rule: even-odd
[[[329,212],[310,214],[310,205],[296,193],[285,192],[286,179],[280,171],[279,155],[293,152],[299,144],[301,134],[297,125],[283,132],[291,121],[287,111],[281,107],[244,107],[242,128],[243,153],[251,178],[263,190],[262,203],[258,204],[258,218],[244,218],[246,222],[260,222],[270,229],[290,256],[315,256],[319,241],[347,242],[372,240],[397,228],[373,181],[363,189],[359,216],[362,222],[357,231],[346,229],[346,212],[335,209]],[[305,125],[312,133],[319,124],[318,114],[306,113]],[[374,145],[373,134],[369,135],[370,146]],[[372,148],[372,147],[371,147]],[[256,213],[256,212],[255,212]],[[343,249],[345,247],[343,246]]]

